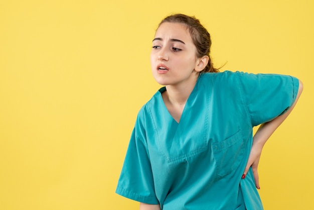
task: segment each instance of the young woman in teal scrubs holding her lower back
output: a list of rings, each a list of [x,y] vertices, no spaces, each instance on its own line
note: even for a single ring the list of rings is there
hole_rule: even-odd
[[[302,91],[295,77],[218,72],[194,17],[165,18],[150,54],[164,85],[139,111],[116,193],[140,209],[263,209],[263,145]],[[256,134],[252,128],[262,124]]]

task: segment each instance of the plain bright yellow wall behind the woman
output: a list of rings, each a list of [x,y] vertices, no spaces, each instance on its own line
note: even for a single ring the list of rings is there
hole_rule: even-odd
[[[298,77],[259,165],[265,209],[314,209],[314,5],[284,1],[2,1],[0,209],[137,209],[114,193],[137,111],[159,88],[159,21],[196,15],[222,70]],[[271,108],[270,108],[271,109]]]

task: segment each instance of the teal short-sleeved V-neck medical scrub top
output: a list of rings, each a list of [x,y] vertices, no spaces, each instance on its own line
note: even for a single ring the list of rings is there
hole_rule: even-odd
[[[164,210],[263,209],[252,170],[241,179],[252,128],[287,111],[295,77],[202,73],[180,122],[162,87],[138,113],[116,193]]]

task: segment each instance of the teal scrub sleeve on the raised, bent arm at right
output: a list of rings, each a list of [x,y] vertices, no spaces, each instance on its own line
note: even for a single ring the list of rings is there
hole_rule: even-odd
[[[298,91],[297,78],[280,74],[236,73],[252,126],[269,122],[292,106]]]

